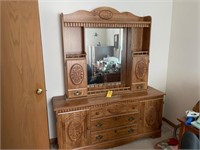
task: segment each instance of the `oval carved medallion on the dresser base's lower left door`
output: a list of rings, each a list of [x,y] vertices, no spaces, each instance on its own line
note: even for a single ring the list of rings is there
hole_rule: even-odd
[[[77,141],[83,133],[82,125],[79,121],[72,121],[68,126],[68,136],[71,141]]]

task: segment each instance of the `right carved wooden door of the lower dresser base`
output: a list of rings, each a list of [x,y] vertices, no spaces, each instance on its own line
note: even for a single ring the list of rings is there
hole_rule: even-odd
[[[163,98],[140,102],[140,132],[161,129]]]

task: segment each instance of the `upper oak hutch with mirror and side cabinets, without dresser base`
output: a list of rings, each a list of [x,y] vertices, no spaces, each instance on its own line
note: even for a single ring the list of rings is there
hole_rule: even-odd
[[[110,7],[61,14],[68,98],[147,89],[151,17]]]

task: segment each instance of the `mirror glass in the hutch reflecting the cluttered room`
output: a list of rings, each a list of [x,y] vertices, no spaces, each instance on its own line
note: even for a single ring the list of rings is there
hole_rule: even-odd
[[[121,81],[123,28],[85,28],[88,84]]]

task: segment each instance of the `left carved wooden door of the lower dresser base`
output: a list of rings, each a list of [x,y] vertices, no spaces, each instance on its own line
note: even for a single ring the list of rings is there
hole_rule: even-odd
[[[57,115],[59,149],[73,149],[88,145],[89,126],[89,110],[59,113]]]

